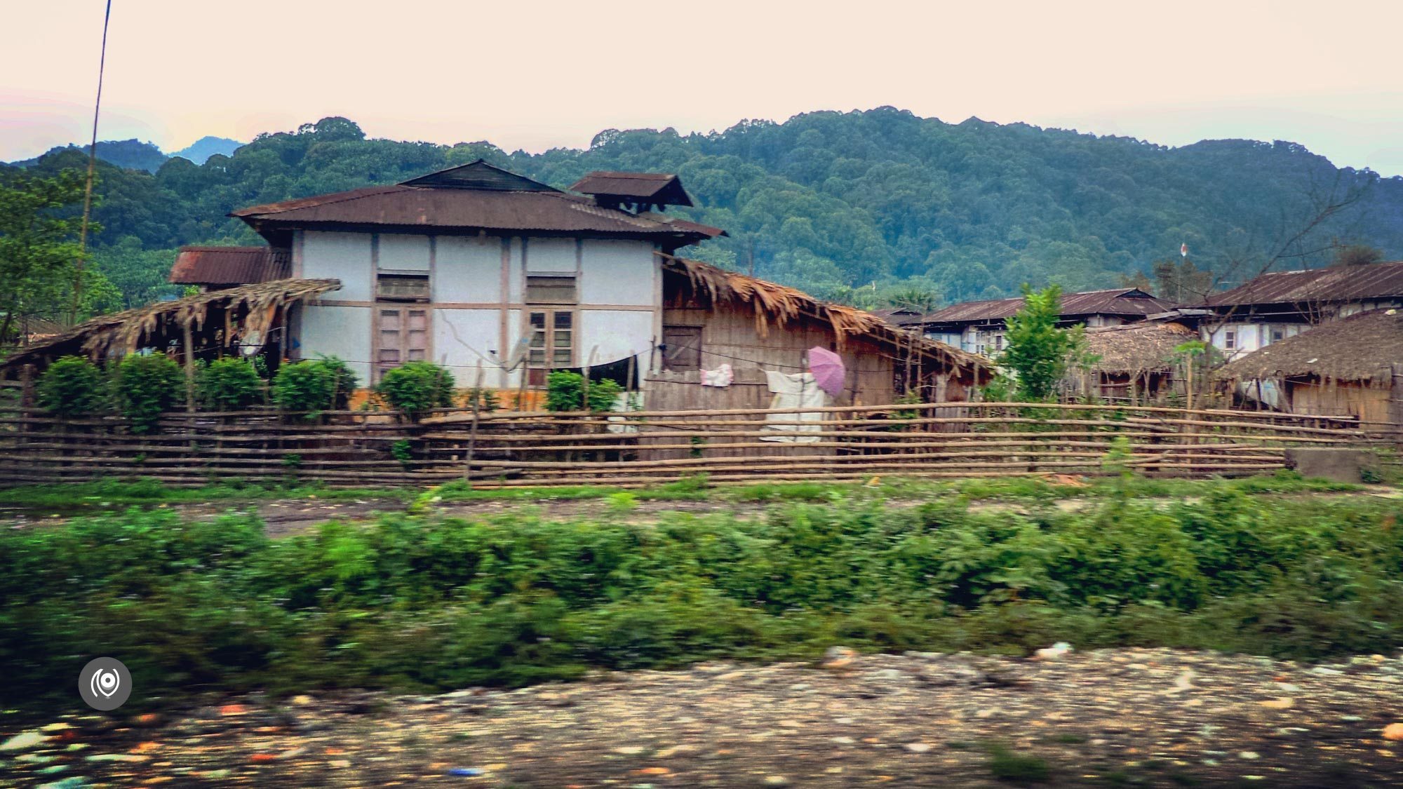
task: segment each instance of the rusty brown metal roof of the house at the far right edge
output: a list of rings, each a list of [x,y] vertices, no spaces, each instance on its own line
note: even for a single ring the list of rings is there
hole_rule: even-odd
[[[1263,274],[1208,298],[1212,306],[1352,302],[1403,296],[1403,261]]]

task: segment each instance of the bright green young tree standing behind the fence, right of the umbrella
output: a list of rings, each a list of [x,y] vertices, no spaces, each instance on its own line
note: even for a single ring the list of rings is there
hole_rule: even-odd
[[[1062,313],[1062,288],[1042,291],[1023,286],[1023,309],[1007,320],[999,365],[1017,376],[1020,397],[1048,400],[1066,375],[1083,343],[1083,327],[1058,327]]]

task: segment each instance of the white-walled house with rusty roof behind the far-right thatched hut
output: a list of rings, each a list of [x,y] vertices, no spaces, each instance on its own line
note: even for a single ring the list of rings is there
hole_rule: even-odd
[[[1237,358],[1319,323],[1400,306],[1403,261],[1275,271],[1209,296],[1200,333]]]

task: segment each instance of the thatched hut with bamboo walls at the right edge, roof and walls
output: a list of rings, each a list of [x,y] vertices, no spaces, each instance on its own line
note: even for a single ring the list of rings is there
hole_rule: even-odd
[[[1403,310],[1389,309],[1278,340],[1229,362],[1219,376],[1240,399],[1287,413],[1386,423],[1399,364]]]

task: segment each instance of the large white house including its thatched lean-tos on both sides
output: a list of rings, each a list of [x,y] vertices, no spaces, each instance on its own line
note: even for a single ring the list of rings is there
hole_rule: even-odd
[[[989,378],[986,362],[870,313],[678,257],[724,234],[664,213],[689,205],[676,175],[591,173],[561,191],[474,161],[246,208],[231,216],[267,246],[178,253],[170,279],[199,296],[104,316],[14,362],[152,345],[272,365],[334,355],[373,386],[432,361],[460,387],[515,394],[506,404],[588,368],[669,409],[766,407],[769,373],[804,373],[811,348],[842,358],[835,404],[912,389],[960,400]]]

